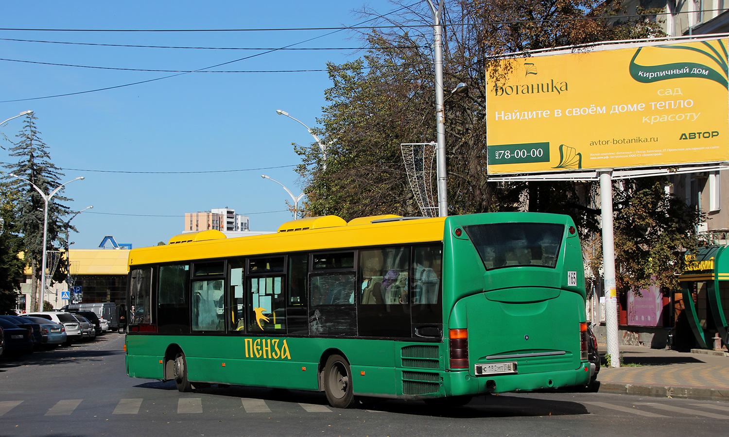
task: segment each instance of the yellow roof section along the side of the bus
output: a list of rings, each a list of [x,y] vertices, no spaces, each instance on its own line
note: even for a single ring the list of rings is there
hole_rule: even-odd
[[[266,253],[287,253],[297,251],[321,251],[336,248],[354,248],[373,245],[391,245],[443,240],[445,218],[420,218],[402,221],[384,221],[369,223],[363,220],[349,225],[332,225],[339,223],[327,216],[327,220],[319,221],[326,227],[317,229],[292,230],[289,221],[281,225],[279,232],[268,235],[250,237],[223,238],[195,241],[188,234],[173,237],[172,244],[136,248],[129,253],[130,265],[155,264],[191,259],[214,259],[232,256],[251,256]],[[375,217],[377,219],[380,217]],[[312,218],[303,218],[307,224],[313,224]],[[345,223],[341,218],[341,223]],[[300,229],[300,228],[297,228]],[[206,232],[206,231],[203,231]],[[184,243],[178,243],[184,241]]]

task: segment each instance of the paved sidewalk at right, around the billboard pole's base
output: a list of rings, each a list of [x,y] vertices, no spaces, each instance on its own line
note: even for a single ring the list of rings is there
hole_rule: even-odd
[[[614,369],[604,365],[607,346],[598,346],[600,393],[729,401],[729,356],[620,346],[623,366]]]

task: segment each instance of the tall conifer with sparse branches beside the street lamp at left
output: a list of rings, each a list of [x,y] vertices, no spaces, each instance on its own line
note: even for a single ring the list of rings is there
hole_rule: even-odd
[[[48,146],[40,138],[40,132],[36,128],[35,113],[26,115],[23,130],[16,135],[17,141],[9,148],[9,156],[17,157],[15,164],[4,165],[9,173],[31,181],[44,193],[48,193],[61,184],[63,173],[51,162]],[[12,176],[5,176],[5,180],[11,189],[19,195],[14,205],[14,213],[17,217],[17,231],[23,235],[23,251],[26,253],[26,262],[33,272],[31,280],[31,307],[38,308],[40,305],[36,300],[42,267],[43,254],[43,222],[44,222],[44,200],[38,192],[26,181],[21,181]],[[59,235],[66,232],[66,224],[61,220],[70,210],[61,202],[71,199],[63,197],[60,193],[53,197],[48,205],[48,228],[47,243],[48,250],[54,250],[54,242],[60,242]],[[74,227],[69,229],[75,230]]]

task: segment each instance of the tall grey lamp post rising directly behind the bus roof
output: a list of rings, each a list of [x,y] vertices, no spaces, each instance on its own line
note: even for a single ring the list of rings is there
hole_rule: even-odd
[[[437,7],[432,0],[428,1],[430,12],[433,15],[433,49],[435,67],[435,128],[437,132],[437,145],[435,146],[435,162],[438,186],[438,216],[448,216],[448,186],[445,182],[445,111],[443,103],[443,4],[439,0]]]

